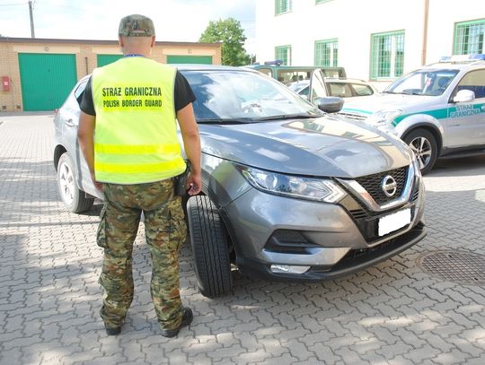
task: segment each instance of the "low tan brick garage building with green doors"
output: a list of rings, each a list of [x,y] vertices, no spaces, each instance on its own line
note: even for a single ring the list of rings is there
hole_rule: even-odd
[[[59,108],[93,68],[122,56],[117,40],[0,38],[0,113]],[[221,64],[220,43],[157,41],[163,64]]]

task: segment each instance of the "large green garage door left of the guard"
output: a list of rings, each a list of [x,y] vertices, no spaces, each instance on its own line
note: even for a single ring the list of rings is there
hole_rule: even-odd
[[[75,55],[19,53],[23,110],[59,108],[77,82]]]

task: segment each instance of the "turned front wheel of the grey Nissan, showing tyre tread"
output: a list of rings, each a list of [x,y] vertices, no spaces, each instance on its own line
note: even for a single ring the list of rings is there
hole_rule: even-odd
[[[207,298],[231,291],[231,264],[224,223],[207,196],[192,196],[187,207],[198,290]]]

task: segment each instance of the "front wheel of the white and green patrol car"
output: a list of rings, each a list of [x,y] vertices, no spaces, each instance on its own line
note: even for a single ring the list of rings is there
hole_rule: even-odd
[[[416,154],[419,169],[423,175],[433,169],[437,161],[437,139],[431,132],[419,128],[411,131],[402,140],[409,144],[411,150]]]

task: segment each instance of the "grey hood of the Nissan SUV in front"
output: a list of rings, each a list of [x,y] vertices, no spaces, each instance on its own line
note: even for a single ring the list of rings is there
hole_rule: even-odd
[[[203,153],[295,175],[355,178],[411,161],[397,138],[330,115],[199,129]]]

